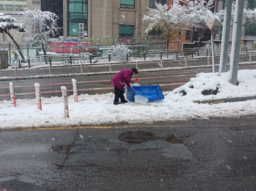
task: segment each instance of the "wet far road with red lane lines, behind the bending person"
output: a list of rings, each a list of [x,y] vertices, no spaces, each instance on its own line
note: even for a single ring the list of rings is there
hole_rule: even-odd
[[[216,68],[217,71],[218,68]],[[229,69],[229,68],[228,68]],[[239,69],[256,69],[256,65],[241,65]],[[156,71],[156,72],[139,72],[136,78],[139,78],[140,85],[156,85],[159,84],[162,91],[171,91],[188,82],[190,78],[195,77],[200,72],[211,72],[212,68],[196,68],[196,69],[179,69],[174,71]],[[114,93],[114,86],[109,81],[112,75],[92,75],[92,76],[76,76],[63,78],[46,78],[46,79],[28,79],[28,80],[12,80],[14,84],[16,99],[33,99],[35,98],[34,83],[41,85],[42,97],[61,97],[61,86],[66,86],[68,96],[73,94],[72,79],[75,78],[78,86],[78,95],[81,94],[106,94]],[[11,100],[9,96],[9,82],[0,81],[0,101]]]

